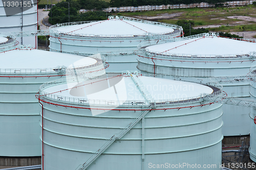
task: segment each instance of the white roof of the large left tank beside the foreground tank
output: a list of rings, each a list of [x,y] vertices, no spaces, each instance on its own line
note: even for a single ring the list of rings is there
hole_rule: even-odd
[[[8,68],[56,68],[57,66],[75,66],[95,64],[97,60],[71,54],[41,50],[12,50],[1,53],[0,69]],[[83,59],[83,60],[81,60]],[[82,61],[76,62],[76,61]]]

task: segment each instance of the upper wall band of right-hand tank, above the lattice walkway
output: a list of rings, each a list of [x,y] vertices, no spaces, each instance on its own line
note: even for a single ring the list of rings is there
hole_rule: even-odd
[[[167,59],[167,58],[161,58]],[[168,60],[168,59],[167,59]],[[247,75],[251,67],[251,61],[248,62],[196,62],[201,60],[184,60],[184,59],[169,59],[181,61],[164,61],[154,60],[155,73],[166,74],[173,76],[191,76],[191,77],[222,77],[222,76],[237,76]],[[194,63],[192,61],[195,61]],[[203,60],[202,60],[203,61]],[[208,61],[208,60],[207,60]],[[231,61],[231,60],[230,60]],[[237,60],[235,60],[237,61]],[[145,72],[154,73],[154,62],[152,59],[138,58],[138,69]]]

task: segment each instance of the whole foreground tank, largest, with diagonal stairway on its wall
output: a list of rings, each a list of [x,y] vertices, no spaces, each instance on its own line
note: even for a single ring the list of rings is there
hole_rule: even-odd
[[[42,166],[45,170],[81,168],[153,102],[155,107],[88,169],[150,169],[166,163],[170,168],[180,163],[185,169],[194,169],[195,164],[221,169],[222,104],[204,103],[201,98],[201,93],[219,92],[201,84],[139,74],[45,83],[39,97]]]

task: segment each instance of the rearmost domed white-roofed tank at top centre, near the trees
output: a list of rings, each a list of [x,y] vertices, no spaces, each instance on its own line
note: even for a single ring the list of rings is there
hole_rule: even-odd
[[[182,27],[124,16],[110,16],[107,20],[61,23],[50,27],[50,50],[63,53],[106,55],[111,67],[107,72],[135,70],[137,45],[159,37],[177,37]],[[135,54],[134,54],[135,53]],[[125,55],[125,57],[123,57]],[[129,62],[129,63],[128,63]],[[121,69],[118,69],[120,67]]]

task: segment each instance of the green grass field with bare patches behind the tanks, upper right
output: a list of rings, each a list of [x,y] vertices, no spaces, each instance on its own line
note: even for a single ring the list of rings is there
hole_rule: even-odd
[[[240,32],[240,31],[256,31],[256,7],[252,5],[233,8],[188,8],[188,9],[169,9],[161,11],[145,11],[145,12],[130,12],[122,13],[124,16],[159,16],[161,14],[177,14],[179,16],[166,19],[153,19],[155,21],[176,23],[177,19],[193,20],[197,26],[219,25],[217,28],[209,28],[210,31],[222,32]],[[240,20],[237,18],[227,18],[228,16],[249,16],[255,20]],[[242,24],[243,23],[243,24]]]

